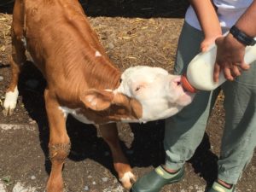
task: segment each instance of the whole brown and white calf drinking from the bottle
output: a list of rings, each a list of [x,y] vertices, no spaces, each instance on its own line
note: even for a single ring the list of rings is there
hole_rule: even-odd
[[[121,73],[109,61],[77,0],[16,0],[12,24],[12,80],[4,101],[14,112],[20,64],[32,55],[47,80],[44,91],[52,163],[48,192],[63,191],[61,169],[70,150],[67,115],[99,125],[108,143],[119,181],[127,189],[135,179],[119,146],[113,122],[165,119],[188,105],[180,77],[159,67],[131,67]]]

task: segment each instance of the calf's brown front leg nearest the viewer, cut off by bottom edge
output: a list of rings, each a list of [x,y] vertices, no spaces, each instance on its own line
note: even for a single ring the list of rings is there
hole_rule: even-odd
[[[70,151],[70,140],[66,130],[66,115],[60,109],[55,96],[44,92],[49,121],[49,159],[51,171],[46,186],[47,192],[63,192],[62,167]]]

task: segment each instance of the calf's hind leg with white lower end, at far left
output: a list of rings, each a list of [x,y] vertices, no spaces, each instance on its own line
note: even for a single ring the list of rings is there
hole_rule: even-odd
[[[22,5],[20,1],[15,2],[13,23],[11,28],[12,37],[12,55],[9,57],[11,67],[11,82],[9,88],[6,90],[5,99],[3,102],[3,115],[7,116],[14,113],[17,99],[19,95],[18,80],[20,74],[20,65],[26,61],[25,47],[22,42],[24,20],[22,14]]]

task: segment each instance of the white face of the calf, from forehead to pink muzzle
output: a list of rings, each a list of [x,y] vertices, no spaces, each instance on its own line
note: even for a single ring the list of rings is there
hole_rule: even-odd
[[[166,119],[189,105],[194,97],[183,90],[180,76],[171,75],[160,67],[130,67],[121,80],[114,91],[141,103],[143,114],[139,121],[142,122]]]

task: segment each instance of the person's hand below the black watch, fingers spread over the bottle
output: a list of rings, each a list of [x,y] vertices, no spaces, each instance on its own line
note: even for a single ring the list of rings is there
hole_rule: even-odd
[[[243,70],[249,69],[244,61],[245,45],[233,38],[231,34],[217,38],[217,55],[214,65],[213,80],[218,82],[219,73],[223,71],[225,79],[234,80]]]

